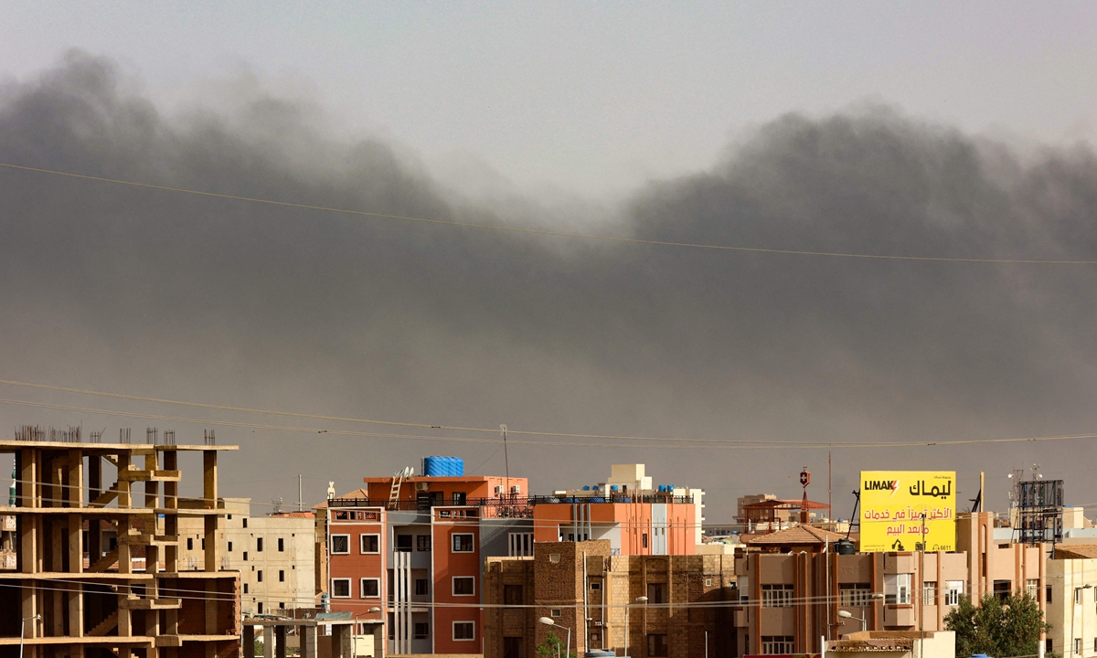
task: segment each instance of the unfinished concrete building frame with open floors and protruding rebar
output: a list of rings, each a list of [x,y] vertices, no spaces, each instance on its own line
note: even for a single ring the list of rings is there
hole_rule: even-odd
[[[240,654],[239,575],[219,571],[217,453],[149,430],[117,443],[79,428],[0,440],[14,487],[0,507],[0,656],[226,658]],[[200,453],[202,500],[181,509],[181,453]],[[113,483],[113,484],[112,484]],[[134,485],[139,485],[135,487]],[[180,569],[179,520],[204,519],[201,570]]]

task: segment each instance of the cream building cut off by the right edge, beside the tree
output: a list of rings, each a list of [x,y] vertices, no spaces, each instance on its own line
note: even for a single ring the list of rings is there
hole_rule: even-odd
[[[1048,560],[1044,650],[1063,658],[1097,656],[1097,545],[1060,546]]]

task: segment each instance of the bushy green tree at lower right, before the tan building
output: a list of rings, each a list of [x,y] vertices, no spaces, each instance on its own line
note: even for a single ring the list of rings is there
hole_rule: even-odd
[[[957,656],[1031,656],[1039,653],[1040,633],[1051,628],[1036,599],[1017,593],[1006,599],[986,594],[979,605],[968,597],[945,617],[957,634]]]

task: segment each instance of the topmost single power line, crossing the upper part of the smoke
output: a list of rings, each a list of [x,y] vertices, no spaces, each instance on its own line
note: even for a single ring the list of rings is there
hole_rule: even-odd
[[[58,171],[54,169],[43,169],[38,167],[26,167],[21,164],[12,164],[9,162],[0,162],[0,167],[7,169],[19,170],[19,171],[30,171],[34,173],[47,173],[53,175],[63,175],[67,178],[95,181],[100,183],[113,183],[117,185],[129,185],[133,188],[144,188],[146,190],[158,190],[161,192],[177,192],[181,194],[193,194],[196,196],[206,196],[213,198],[224,198],[230,201],[244,201],[248,203],[261,203],[273,206],[291,207],[305,211],[318,211],[324,213],[338,213],[341,215],[355,215],[360,217],[373,217],[380,219],[398,219],[402,222],[417,222],[422,224],[433,224],[439,226],[452,226],[456,228],[471,228],[477,230],[496,230],[502,232],[512,234],[525,234],[534,236],[544,236],[553,238],[569,238],[569,239],[583,239],[583,240],[597,240],[602,242],[620,242],[627,245],[647,245],[653,247],[678,247],[686,249],[710,249],[719,251],[739,251],[748,253],[771,253],[780,256],[814,256],[822,258],[849,258],[849,259],[870,259],[870,260],[897,260],[897,261],[935,261],[935,262],[952,262],[952,263],[986,263],[986,264],[1042,264],[1042,265],[1097,265],[1097,260],[1054,260],[1054,259],[998,259],[998,258],[964,258],[964,257],[939,257],[939,256],[900,256],[900,254],[889,254],[889,253],[850,253],[850,252],[839,252],[839,251],[811,251],[805,249],[770,249],[764,247],[737,247],[732,245],[708,245],[701,242],[676,242],[670,240],[646,240],[643,238],[625,238],[619,236],[598,236],[592,234],[577,234],[561,230],[544,230],[535,228],[520,228],[516,226],[498,226],[491,224],[471,224],[464,222],[454,222],[452,219],[431,219],[427,217],[411,217],[408,215],[395,215],[389,213],[372,213],[366,211],[353,211],[349,208],[336,208],[330,206],[314,205],[306,203],[294,203],[289,201],[274,201],[272,198],[259,198],[255,196],[241,196],[237,194],[223,194],[217,192],[204,192],[201,190],[190,190],[186,188],[172,188],[169,185],[157,185],[152,183],[140,183],[137,181],[126,181],[122,179],[112,179],[99,175],[89,175],[83,173],[72,173],[68,171]]]

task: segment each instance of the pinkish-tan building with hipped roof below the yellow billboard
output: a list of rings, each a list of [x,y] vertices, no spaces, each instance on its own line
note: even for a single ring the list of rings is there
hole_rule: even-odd
[[[735,567],[738,655],[817,653],[821,637],[862,623],[869,631],[943,631],[964,594],[1026,591],[1043,608],[1043,547],[989,543],[992,524],[988,512],[962,514],[954,553],[853,553],[802,525],[755,537]],[[764,552],[762,540],[788,552]]]

